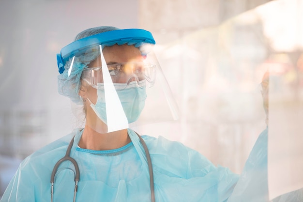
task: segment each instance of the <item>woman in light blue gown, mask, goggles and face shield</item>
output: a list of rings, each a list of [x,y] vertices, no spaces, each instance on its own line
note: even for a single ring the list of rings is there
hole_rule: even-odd
[[[163,77],[154,44],[149,31],[97,27],[61,49],[59,93],[83,105],[85,127],[28,156],[0,202],[227,201],[238,175],[179,142],[130,129],[158,102],[146,99]]]

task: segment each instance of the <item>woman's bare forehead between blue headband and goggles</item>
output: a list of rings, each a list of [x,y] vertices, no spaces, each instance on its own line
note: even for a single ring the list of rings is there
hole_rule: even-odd
[[[103,55],[106,62],[129,62],[142,59],[141,52],[138,48],[128,45],[114,45],[105,47]]]

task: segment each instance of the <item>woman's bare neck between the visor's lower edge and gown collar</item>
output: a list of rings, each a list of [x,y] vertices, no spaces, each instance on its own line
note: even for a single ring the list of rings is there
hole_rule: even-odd
[[[110,133],[98,133],[90,126],[85,125],[79,147],[90,150],[118,149],[131,142],[127,129]]]

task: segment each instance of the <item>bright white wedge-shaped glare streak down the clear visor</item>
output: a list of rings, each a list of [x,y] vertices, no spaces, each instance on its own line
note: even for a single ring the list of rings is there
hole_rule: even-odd
[[[128,121],[124,110],[122,108],[119,96],[115,90],[113,81],[110,77],[107,64],[102,52],[102,46],[100,45],[100,56],[102,74],[104,79],[104,93],[106,99],[106,119],[107,119],[107,132],[113,132],[128,128]]]

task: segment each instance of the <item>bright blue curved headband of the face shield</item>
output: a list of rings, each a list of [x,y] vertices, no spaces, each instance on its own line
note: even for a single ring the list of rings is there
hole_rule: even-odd
[[[60,54],[57,54],[57,63],[59,73],[64,71],[65,63],[72,57],[83,54],[90,47],[102,45],[102,47],[110,47],[113,45],[134,45],[141,47],[143,44],[155,44],[152,33],[141,29],[125,29],[106,31],[95,34],[89,37],[79,39],[61,49]],[[142,55],[146,55],[146,50],[142,50]]]

